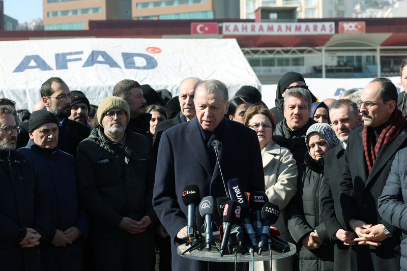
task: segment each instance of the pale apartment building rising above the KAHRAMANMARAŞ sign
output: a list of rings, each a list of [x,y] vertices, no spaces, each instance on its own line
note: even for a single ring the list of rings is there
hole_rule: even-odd
[[[296,8],[298,19],[350,18],[353,13],[352,0],[240,0],[240,6],[241,19],[254,19],[262,7]]]

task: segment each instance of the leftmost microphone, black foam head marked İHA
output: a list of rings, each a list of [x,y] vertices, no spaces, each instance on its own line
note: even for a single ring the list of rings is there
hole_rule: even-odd
[[[188,206],[187,226],[189,241],[192,242],[194,236],[195,225],[195,207],[199,204],[200,195],[199,188],[196,185],[189,185],[182,192],[182,201]]]

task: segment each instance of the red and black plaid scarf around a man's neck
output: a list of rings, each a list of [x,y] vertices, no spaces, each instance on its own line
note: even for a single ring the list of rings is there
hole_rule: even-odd
[[[365,149],[365,158],[369,174],[382,146],[392,142],[401,132],[401,130],[404,129],[406,122],[407,121],[405,120],[401,111],[395,109],[393,114],[391,114],[390,118],[386,122],[385,127],[380,133],[379,139],[377,139],[376,143],[374,143],[375,137],[373,128],[368,126],[363,127],[363,148]]]

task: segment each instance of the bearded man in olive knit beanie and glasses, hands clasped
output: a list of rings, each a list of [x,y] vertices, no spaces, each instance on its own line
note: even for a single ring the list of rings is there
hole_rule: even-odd
[[[127,128],[130,107],[107,97],[100,127],[78,146],[80,194],[91,215],[97,270],[154,270],[155,159],[147,137]]]

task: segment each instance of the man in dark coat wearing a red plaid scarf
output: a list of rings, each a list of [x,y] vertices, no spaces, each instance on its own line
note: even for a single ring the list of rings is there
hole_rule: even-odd
[[[400,270],[400,231],[377,211],[397,151],[407,146],[407,122],[396,108],[396,86],[373,79],[362,91],[364,127],[349,136],[341,175],[340,202],[355,239],[358,270]]]

